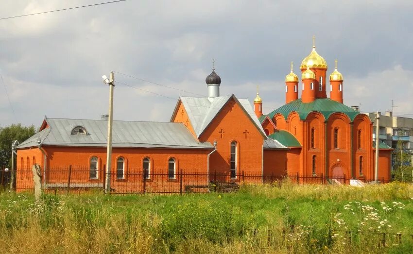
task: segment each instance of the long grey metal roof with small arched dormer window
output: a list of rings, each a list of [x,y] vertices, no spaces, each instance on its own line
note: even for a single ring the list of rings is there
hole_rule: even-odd
[[[105,147],[107,143],[107,121],[82,119],[46,119],[46,128],[26,141],[17,149],[42,145]],[[86,129],[87,135],[70,135],[76,126]],[[213,149],[209,142],[198,142],[182,123],[113,121],[113,147],[143,148],[185,148]]]

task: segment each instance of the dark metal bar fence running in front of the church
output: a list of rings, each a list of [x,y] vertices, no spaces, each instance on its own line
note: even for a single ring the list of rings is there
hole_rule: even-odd
[[[42,186],[48,192],[81,192],[81,191],[103,191],[106,173],[104,170],[93,171],[87,167],[53,167],[43,171]],[[14,183],[11,185],[12,174]],[[186,193],[186,192],[208,192],[232,191],[242,184],[274,184],[288,177],[296,184],[318,184],[318,185],[342,185],[349,184],[350,179],[343,177],[326,177],[324,175],[275,175],[262,174],[260,171],[243,171],[231,177],[229,171],[211,171],[209,173],[201,170],[176,170],[149,172],[142,169],[128,169],[126,171],[111,170],[110,178],[111,194],[145,194],[145,193]],[[363,183],[381,182],[359,179]],[[17,192],[33,191],[32,169],[17,169],[15,171],[0,169],[0,183],[3,187],[12,187]]]

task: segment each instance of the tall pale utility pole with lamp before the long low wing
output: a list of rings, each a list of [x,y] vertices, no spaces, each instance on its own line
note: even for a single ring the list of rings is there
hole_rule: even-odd
[[[113,87],[115,86],[115,74],[110,71],[110,78],[102,76],[103,83],[109,85],[109,119],[107,123],[107,152],[106,152],[106,179],[105,193],[110,193],[110,168],[112,162],[112,122],[113,122]]]

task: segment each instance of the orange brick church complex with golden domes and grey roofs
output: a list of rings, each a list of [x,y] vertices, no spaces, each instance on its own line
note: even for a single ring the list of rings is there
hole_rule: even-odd
[[[262,114],[257,93],[254,105],[235,95],[220,96],[221,78],[206,77],[206,97],[180,97],[169,122],[113,122],[111,181],[117,186],[156,173],[167,180],[179,172],[374,178],[372,122],[343,104],[343,75],[335,70],[327,83],[327,63],[313,46],[300,66],[301,84],[291,72],[285,78],[285,105]],[[329,88],[329,98],[327,97]],[[299,98],[301,91],[301,98]],[[58,184],[53,170],[62,166],[87,169],[76,181],[102,186],[106,164],[107,121],[45,118],[39,132],[17,147],[17,189],[30,182],[24,175],[35,163],[45,185]],[[392,149],[380,144],[379,178],[390,179]]]

